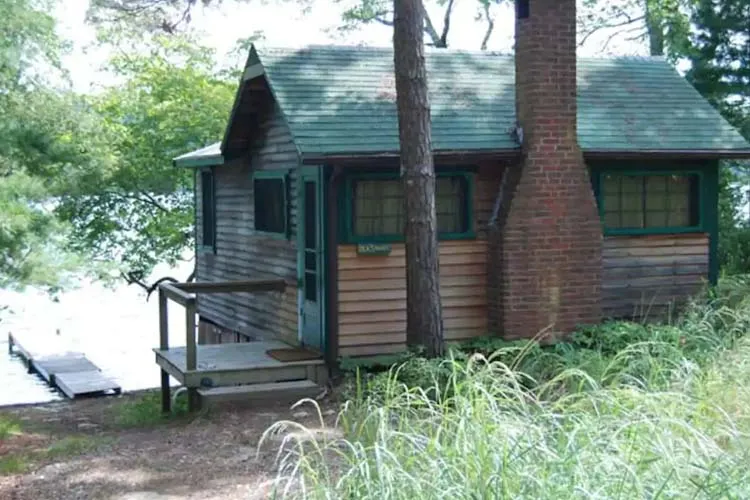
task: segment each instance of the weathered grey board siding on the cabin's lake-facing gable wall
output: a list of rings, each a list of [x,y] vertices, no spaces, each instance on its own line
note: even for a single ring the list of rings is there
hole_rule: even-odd
[[[216,248],[197,253],[198,281],[234,281],[280,277],[283,293],[201,295],[198,314],[222,328],[252,337],[297,342],[297,202],[298,157],[278,108],[261,120],[249,154],[214,168]],[[290,237],[277,239],[254,230],[252,168],[289,170]],[[197,176],[198,183],[200,176]],[[196,189],[196,225],[201,233],[200,185]],[[200,241],[198,241],[200,248]]]

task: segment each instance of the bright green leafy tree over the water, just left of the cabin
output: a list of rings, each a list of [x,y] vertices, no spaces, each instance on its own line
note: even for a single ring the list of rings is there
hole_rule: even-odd
[[[191,248],[193,172],[171,159],[221,137],[234,97],[213,51],[164,35],[149,45],[110,61],[123,83],[89,99],[102,164],[71,172],[56,211],[74,250],[117,263],[131,281]]]

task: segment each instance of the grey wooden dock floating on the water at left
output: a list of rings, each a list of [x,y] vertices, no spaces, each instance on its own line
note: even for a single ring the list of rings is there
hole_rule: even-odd
[[[71,399],[120,394],[122,389],[82,352],[70,350],[57,336],[8,334],[8,350]]]

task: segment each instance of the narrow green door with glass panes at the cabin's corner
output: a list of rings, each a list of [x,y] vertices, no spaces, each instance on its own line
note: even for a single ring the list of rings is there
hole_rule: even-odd
[[[324,217],[321,167],[302,167],[297,222],[299,337],[302,345],[323,352],[325,311]]]

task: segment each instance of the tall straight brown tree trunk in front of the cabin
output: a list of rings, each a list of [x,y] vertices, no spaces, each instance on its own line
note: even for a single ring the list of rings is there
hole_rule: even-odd
[[[445,346],[423,27],[422,0],[394,0],[393,57],[406,209],[406,340],[424,347],[427,356],[441,356]]]

